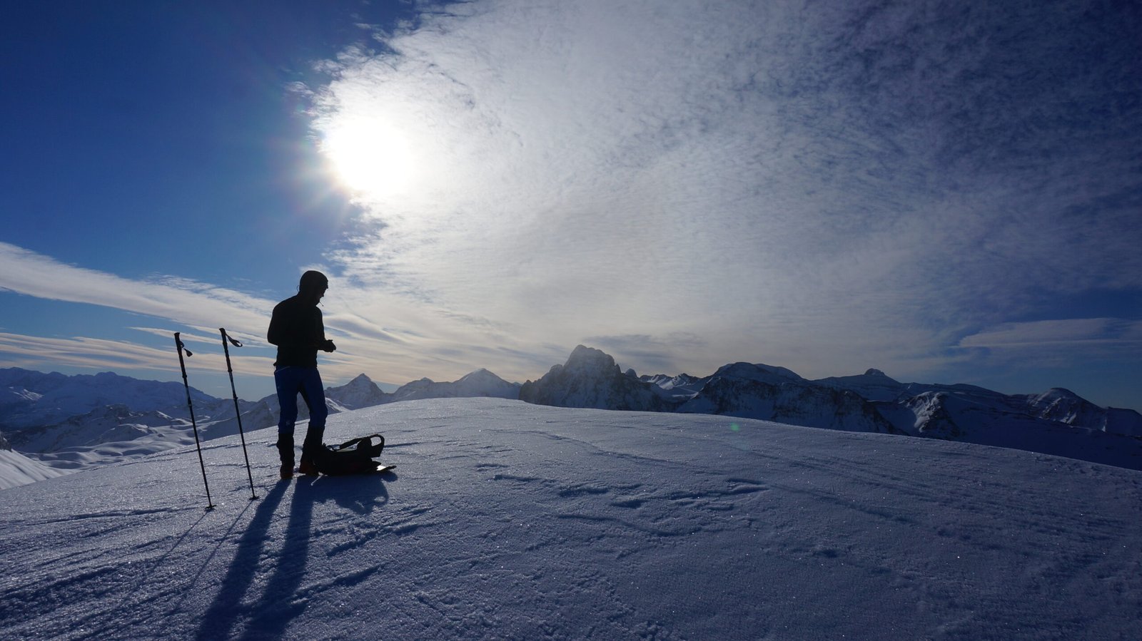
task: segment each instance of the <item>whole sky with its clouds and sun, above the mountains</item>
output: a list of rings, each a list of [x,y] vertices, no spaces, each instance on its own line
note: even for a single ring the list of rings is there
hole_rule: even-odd
[[[31,5],[31,3],[27,3]],[[1142,409],[1142,9],[63,2],[6,16],[0,366],[271,391],[578,343]],[[223,374],[219,374],[223,372]]]

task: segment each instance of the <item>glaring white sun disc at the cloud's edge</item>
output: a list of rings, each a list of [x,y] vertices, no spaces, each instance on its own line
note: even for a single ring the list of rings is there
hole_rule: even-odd
[[[408,139],[383,120],[341,121],[325,131],[321,151],[338,181],[359,195],[397,195],[412,181],[415,163]]]

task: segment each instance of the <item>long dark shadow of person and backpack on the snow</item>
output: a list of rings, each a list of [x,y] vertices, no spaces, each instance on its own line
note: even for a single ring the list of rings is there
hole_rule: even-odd
[[[289,481],[281,481],[266,494],[238,542],[238,552],[231,561],[214,602],[203,614],[196,639],[200,641],[230,639],[243,615],[249,624],[242,639],[280,639],[290,622],[305,610],[305,601],[295,601],[309,553],[314,503],[333,500],[341,508],[367,514],[377,505],[388,502],[383,479],[395,474],[367,477],[299,477],[295,481],[290,501],[289,521],[282,549],[276,554],[276,566],[266,579],[265,592],[252,606],[243,606],[242,598],[254,583],[263,547],[268,539],[273,514],[284,496]]]

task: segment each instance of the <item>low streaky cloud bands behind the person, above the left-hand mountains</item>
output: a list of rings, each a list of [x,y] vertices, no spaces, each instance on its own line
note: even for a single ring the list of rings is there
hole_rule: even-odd
[[[394,295],[376,284],[337,276],[331,284],[323,307],[327,333],[338,343],[338,351],[322,358],[322,374],[330,382],[345,381],[362,372],[397,382],[416,380],[426,373],[452,380],[480,366],[474,365],[480,363],[478,357],[497,354],[510,355],[512,363],[528,364],[501,368],[505,376],[533,375],[536,357],[521,357],[523,344],[512,340],[502,327],[473,317],[457,317]],[[130,327],[140,333],[138,342],[2,334],[0,365],[3,366],[170,371],[174,348],[166,346],[174,344],[172,333],[179,331],[183,341],[195,351],[187,366],[219,373],[226,370],[218,326],[225,325],[231,335],[246,344],[233,355],[235,372],[262,376],[273,372],[274,347],[266,342],[265,331],[276,301],[185,278],[123,278],[66,265],[8,243],[0,243],[0,289],[166,322],[164,327]],[[148,338],[142,340],[143,336]],[[195,344],[200,347],[194,348]],[[540,354],[540,358],[554,358],[549,352]]]

